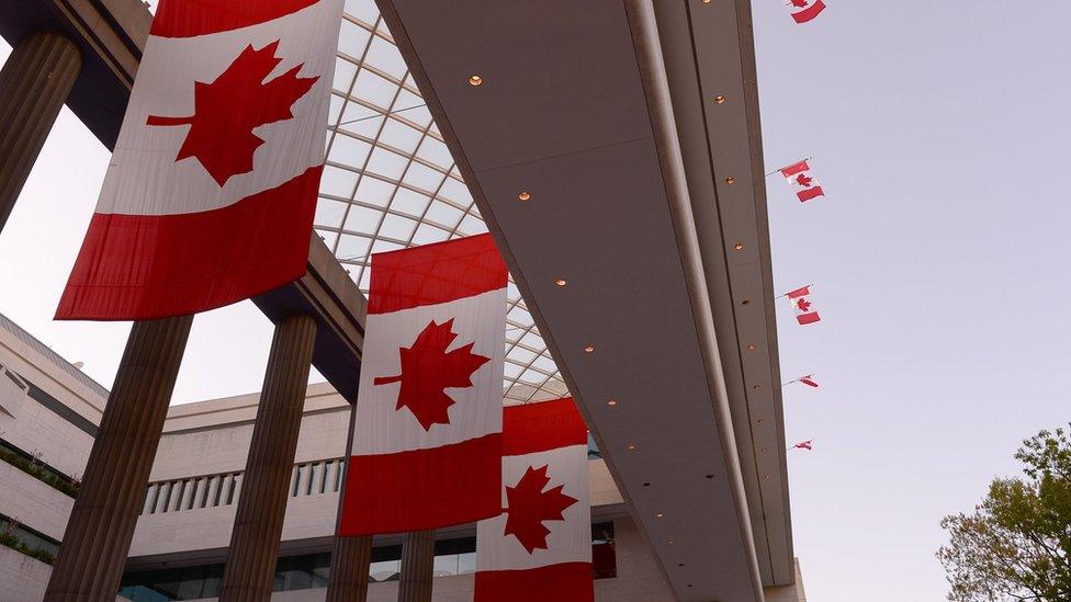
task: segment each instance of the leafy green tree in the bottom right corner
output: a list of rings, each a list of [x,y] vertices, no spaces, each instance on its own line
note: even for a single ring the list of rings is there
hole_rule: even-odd
[[[1015,459],[1024,477],[993,479],[972,513],[940,522],[948,600],[1071,601],[1071,441],[1041,431]]]

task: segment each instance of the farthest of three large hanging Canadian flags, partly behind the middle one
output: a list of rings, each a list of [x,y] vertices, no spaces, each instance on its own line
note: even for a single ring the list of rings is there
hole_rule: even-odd
[[[584,419],[559,399],[503,420],[501,514],[476,523],[475,602],[591,602]]]

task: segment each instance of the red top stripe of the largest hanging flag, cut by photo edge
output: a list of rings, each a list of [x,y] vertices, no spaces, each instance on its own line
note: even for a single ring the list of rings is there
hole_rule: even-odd
[[[160,0],[150,35],[193,37],[248,27],[297,12],[319,0]]]

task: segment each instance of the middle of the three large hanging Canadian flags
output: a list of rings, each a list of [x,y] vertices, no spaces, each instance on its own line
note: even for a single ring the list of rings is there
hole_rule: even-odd
[[[501,512],[506,263],[491,235],[372,255],[339,535]]]

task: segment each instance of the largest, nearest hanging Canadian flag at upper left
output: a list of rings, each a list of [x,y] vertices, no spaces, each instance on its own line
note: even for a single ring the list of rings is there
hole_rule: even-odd
[[[204,311],[305,273],[343,0],[160,0],[59,319]]]

